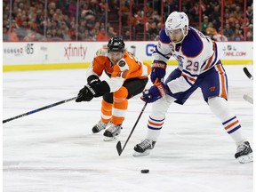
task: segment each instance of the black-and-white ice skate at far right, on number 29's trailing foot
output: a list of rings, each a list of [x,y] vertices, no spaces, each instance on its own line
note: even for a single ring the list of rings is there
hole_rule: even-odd
[[[248,141],[244,141],[237,146],[235,157],[240,164],[246,164],[253,161],[252,148]]]

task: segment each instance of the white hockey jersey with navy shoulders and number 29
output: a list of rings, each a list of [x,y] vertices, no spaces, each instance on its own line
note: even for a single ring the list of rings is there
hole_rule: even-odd
[[[185,92],[195,84],[197,76],[220,63],[217,44],[192,27],[181,44],[173,44],[163,28],[152,56],[153,62],[167,63],[171,56],[179,62],[181,76],[167,83],[172,93]]]

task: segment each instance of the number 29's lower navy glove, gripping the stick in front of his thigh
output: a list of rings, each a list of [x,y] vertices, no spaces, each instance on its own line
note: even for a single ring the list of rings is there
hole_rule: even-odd
[[[165,84],[157,83],[142,93],[141,100],[151,103],[159,100],[166,95]]]

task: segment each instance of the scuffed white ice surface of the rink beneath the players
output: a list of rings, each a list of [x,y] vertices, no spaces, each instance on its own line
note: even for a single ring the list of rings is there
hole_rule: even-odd
[[[244,66],[224,66],[229,104],[253,146],[252,81]],[[168,68],[172,70],[174,66]],[[252,66],[248,66],[252,71]],[[7,72],[3,74],[3,119],[75,97],[86,69]],[[150,84],[148,83],[148,87]],[[140,115],[140,96],[129,100],[124,142]],[[4,192],[175,191],[251,192],[253,164],[239,164],[236,145],[196,91],[184,106],[172,104],[156,148],[133,157],[147,132],[149,104],[122,156],[115,141],[92,134],[100,119],[100,99],[70,101],[3,124]],[[149,169],[148,174],[140,173]]]

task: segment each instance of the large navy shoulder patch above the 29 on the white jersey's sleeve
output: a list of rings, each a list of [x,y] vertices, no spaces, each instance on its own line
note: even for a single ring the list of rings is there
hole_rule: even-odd
[[[204,48],[203,41],[195,28],[189,27],[188,35],[182,42],[181,51],[187,57],[195,58],[198,56]]]

